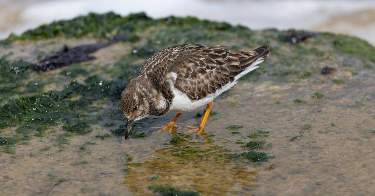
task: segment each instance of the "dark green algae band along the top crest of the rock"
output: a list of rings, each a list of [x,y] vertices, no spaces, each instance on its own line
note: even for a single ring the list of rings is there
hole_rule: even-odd
[[[168,27],[169,30],[172,29],[172,31],[175,30],[182,33],[181,36],[176,36],[175,39],[226,40],[233,37],[230,33],[233,31],[239,32],[240,36],[254,34],[248,28],[239,25],[233,27],[225,22],[199,20],[190,16],[185,18],[169,16],[161,19],[152,19],[146,16],[145,13],[136,13],[121,17],[113,12],[108,12],[105,14],[90,13],[87,16],[79,16],[69,21],[55,21],[48,25],[41,25],[34,30],[28,30],[20,36],[10,34],[6,40],[1,41],[1,44],[10,44],[15,40],[48,39],[57,36],[79,38],[89,33],[98,38],[113,37],[115,34],[126,34],[126,41],[135,42],[139,40],[139,36],[137,35],[139,32],[156,25]],[[154,40],[166,41],[164,40],[165,36],[157,37],[161,36],[162,33],[154,32],[151,34],[156,36]]]

